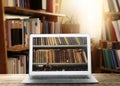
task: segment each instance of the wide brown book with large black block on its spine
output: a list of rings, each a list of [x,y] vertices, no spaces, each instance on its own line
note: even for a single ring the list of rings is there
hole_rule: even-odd
[[[13,19],[13,20],[9,20],[9,21],[11,23],[11,27],[9,28],[9,30],[10,30],[9,35],[11,35],[9,42],[11,42],[11,45],[9,47],[15,46],[15,45],[22,45],[22,40],[23,40],[22,21],[20,19]]]

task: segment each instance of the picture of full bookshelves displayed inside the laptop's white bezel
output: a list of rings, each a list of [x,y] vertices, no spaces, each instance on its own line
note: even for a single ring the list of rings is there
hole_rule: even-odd
[[[34,71],[87,70],[85,37],[34,37],[32,49]]]

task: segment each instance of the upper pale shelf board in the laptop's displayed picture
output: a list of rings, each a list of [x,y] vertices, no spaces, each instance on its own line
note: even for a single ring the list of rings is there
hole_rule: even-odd
[[[34,45],[34,48],[86,48],[87,45]]]

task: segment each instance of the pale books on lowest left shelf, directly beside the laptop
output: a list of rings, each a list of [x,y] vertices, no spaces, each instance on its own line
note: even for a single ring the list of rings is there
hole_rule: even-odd
[[[27,56],[11,55],[8,57],[9,74],[26,74],[27,73]]]

